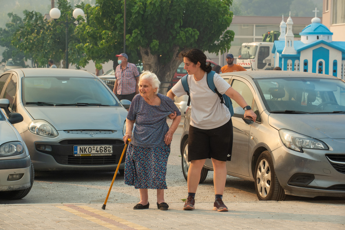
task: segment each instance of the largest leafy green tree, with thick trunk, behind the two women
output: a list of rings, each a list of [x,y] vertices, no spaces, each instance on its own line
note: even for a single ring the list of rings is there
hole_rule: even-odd
[[[227,51],[234,38],[234,32],[226,30],[233,16],[229,11],[231,3],[232,0],[127,1],[129,61],[135,63],[141,57],[145,70],[157,74],[161,82],[168,82],[181,63],[181,50]],[[98,63],[116,61],[115,55],[123,50],[124,1],[97,0],[95,7],[85,7],[85,13],[86,22],[77,28],[82,41],[78,48],[85,50],[81,65],[90,59]],[[161,92],[165,94],[166,88]]]

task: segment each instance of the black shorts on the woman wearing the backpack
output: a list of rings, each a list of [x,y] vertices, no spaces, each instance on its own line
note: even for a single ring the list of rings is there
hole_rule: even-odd
[[[203,130],[189,126],[188,161],[213,158],[218,161],[230,161],[233,149],[233,122]]]

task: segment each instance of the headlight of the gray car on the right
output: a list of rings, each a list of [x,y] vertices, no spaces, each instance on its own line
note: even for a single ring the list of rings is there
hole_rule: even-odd
[[[283,144],[292,150],[302,152],[302,148],[312,148],[312,149],[321,149],[328,150],[328,146],[313,137],[305,136],[291,130],[286,130],[282,128],[279,130],[279,136]]]

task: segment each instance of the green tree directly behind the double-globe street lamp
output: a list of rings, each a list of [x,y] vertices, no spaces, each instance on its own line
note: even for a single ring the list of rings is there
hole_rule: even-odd
[[[56,20],[47,21],[41,13],[24,11],[23,27],[12,39],[12,45],[23,52],[26,58],[32,58],[38,67],[46,66],[49,59],[65,60],[66,50],[66,20],[68,21],[70,64],[79,64],[82,55],[73,44],[79,42],[75,35],[75,19],[72,17],[73,8],[67,0],[58,0],[57,8],[61,16]]]

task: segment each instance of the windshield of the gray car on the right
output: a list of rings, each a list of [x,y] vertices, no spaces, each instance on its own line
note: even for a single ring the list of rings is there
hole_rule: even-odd
[[[340,79],[270,78],[255,84],[269,112],[345,112],[345,83]]]

